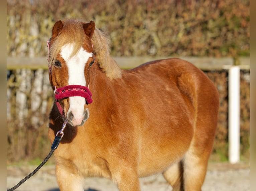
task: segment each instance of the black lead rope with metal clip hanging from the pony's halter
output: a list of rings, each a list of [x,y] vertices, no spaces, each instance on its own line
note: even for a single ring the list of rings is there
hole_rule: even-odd
[[[18,184],[16,184],[15,186],[13,186],[12,188],[10,188],[7,191],[16,190],[21,184],[23,184],[27,179],[29,179],[31,176],[33,176],[47,162],[47,160],[51,157],[53,151],[58,147],[58,145],[59,145],[59,143],[61,141],[61,138],[64,135],[63,130],[66,127],[66,124],[67,124],[67,120],[65,120],[65,122],[63,123],[62,129],[57,132],[57,134],[56,134],[56,136],[54,138],[54,141],[53,141],[53,143],[51,145],[51,151],[46,156],[46,158],[43,160],[43,162],[33,172],[31,172],[29,175],[27,175],[25,178],[23,178]],[[60,134],[61,136],[58,136],[58,134]]]

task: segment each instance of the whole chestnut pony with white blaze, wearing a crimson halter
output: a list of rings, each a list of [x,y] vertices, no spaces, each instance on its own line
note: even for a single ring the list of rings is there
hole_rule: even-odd
[[[201,70],[177,58],[121,70],[93,21],[56,22],[48,47],[51,142],[68,121],[55,151],[61,191],[84,190],[88,176],[139,191],[139,177],[155,173],[175,191],[201,190],[219,108]]]

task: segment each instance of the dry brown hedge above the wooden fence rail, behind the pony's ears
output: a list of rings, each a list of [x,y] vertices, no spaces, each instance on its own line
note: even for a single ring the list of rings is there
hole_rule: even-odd
[[[65,18],[94,20],[113,56],[249,55],[249,0],[8,0],[7,54],[46,55],[53,24]]]

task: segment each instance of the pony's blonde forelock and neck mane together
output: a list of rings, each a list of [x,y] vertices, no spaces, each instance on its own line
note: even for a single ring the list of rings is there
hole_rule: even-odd
[[[72,19],[68,19],[63,22],[62,30],[50,47],[50,61],[54,61],[56,59],[61,47],[65,44],[74,44],[74,50],[71,56],[74,56],[80,50],[83,46],[83,24],[83,21]],[[95,27],[91,40],[97,63],[99,64],[102,72],[104,72],[109,79],[121,78],[122,70],[118,67],[115,60],[110,57],[110,40],[107,38],[107,35]]]

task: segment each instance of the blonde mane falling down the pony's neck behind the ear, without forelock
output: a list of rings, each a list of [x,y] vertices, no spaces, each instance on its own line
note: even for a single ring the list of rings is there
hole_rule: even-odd
[[[118,67],[116,61],[110,57],[110,40],[107,35],[95,27],[92,43],[101,70],[109,79],[121,78],[122,70]]]

